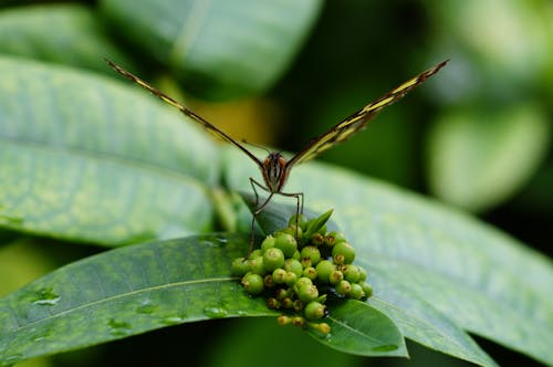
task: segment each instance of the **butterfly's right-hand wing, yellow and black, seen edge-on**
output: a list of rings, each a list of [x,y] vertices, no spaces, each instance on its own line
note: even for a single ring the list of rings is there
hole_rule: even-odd
[[[332,148],[338,143],[347,140],[351,136],[355,135],[357,132],[363,129],[366,124],[378,114],[384,107],[397,102],[404,95],[406,95],[410,90],[417,87],[419,84],[424,83],[428,77],[436,74],[441,67],[444,67],[449,60],[442,61],[439,64],[428,69],[427,71],[411,77],[407,82],[397,86],[393,91],[386,93],[375,102],[366,105],[362,109],[357,111],[355,114],[351,115],[340,124],[333,126],[330,130],[321,136],[317,136],[311,140],[307,146],[293,156],[286,164],[286,169],[290,169],[293,165],[301,164],[303,161],[315,158],[326,149]]]

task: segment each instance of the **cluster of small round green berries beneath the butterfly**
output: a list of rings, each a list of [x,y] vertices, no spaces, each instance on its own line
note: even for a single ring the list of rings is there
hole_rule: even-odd
[[[373,293],[365,282],[366,271],[353,264],[354,248],[343,233],[327,232],[331,214],[332,210],[311,220],[293,216],[288,228],[263,240],[261,249],[232,262],[248,293],[263,293],[270,308],[294,314],[280,316],[280,324],[310,326],[327,334],[330,326],[316,321],[327,315],[324,303],[328,293],[354,300]]]

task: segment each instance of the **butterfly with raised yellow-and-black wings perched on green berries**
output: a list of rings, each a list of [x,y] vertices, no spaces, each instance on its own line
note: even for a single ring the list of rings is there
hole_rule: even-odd
[[[366,124],[376,116],[376,114],[384,107],[397,102],[404,95],[406,95],[409,91],[413,88],[417,87],[421,83],[424,83],[428,77],[432,76],[436,74],[441,67],[444,67],[449,60],[445,60],[435,66],[428,69],[427,71],[418,74],[415,77],[411,77],[407,82],[400,84],[399,86],[395,87],[390,92],[386,93],[378,99],[376,99],[373,103],[369,103],[365,107],[361,108],[349,117],[345,118],[344,120],[340,122],[338,124],[334,125],[331,127],[326,133],[315,137],[314,139],[311,140],[302,150],[296,153],[290,160],[286,160],[280,153],[269,153],[265,159],[261,160],[258,157],[255,157],[250,150],[248,150],[241,143],[237,141],[232,137],[230,137],[228,134],[225,132],[218,129],[215,125],[209,123],[207,119],[204,117],[197,115],[194,111],[189,109],[181,103],[175,101],[174,98],[169,97],[168,95],[161,93],[158,91],[156,87],[149,85],[148,83],[144,82],[139,77],[133,75],[132,73],[127,72],[123,67],[118,66],[114,62],[106,60],[106,62],[109,64],[112,69],[114,69],[116,72],[122,74],[123,76],[129,78],[131,81],[135,82],[143,88],[149,91],[152,94],[156,95],[159,97],[161,101],[177,107],[182,114],[186,116],[190,117],[192,120],[196,123],[200,124],[206,128],[209,133],[218,136],[219,138],[222,138],[223,140],[227,140],[228,143],[234,145],[238,147],[240,150],[242,150],[248,157],[253,160],[259,169],[261,170],[261,175],[263,177],[263,182],[264,185],[258,182],[253,178],[250,177],[250,185],[253,189],[253,192],[255,193],[255,210],[253,211],[253,217],[251,221],[251,232],[250,232],[250,252],[248,255],[251,253],[253,249],[253,242],[254,242],[254,237],[253,237],[253,228],[255,223],[255,217],[263,210],[263,208],[271,201],[272,197],[274,195],[281,195],[285,197],[293,197],[296,200],[296,228],[298,228],[298,214],[303,212],[303,192],[284,192],[282,191],[284,188],[284,185],[286,184],[286,179],[290,176],[290,170],[292,167],[295,165],[299,165],[301,162],[304,162],[306,160],[313,159],[314,157],[319,156],[321,153],[325,151],[328,148],[332,148],[338,143],[347,140],[351,136],[363,129]],[[259,205],[259,195],[258,190],[255,187],[267,191],[269,196],[267,199]],[[298,235],[296,235],[298,237]]]

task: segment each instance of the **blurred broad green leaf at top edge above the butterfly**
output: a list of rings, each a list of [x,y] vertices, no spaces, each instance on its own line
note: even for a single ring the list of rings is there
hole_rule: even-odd
[[[117,32],[176,71],[208,98],[268,90],[283,74],[313,24],[319,0],[103,0]]]

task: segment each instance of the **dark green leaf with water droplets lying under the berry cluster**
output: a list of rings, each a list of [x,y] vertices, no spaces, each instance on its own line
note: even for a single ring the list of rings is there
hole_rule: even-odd
[[[230,274],[247,248],[248,237],[212,234],[125,247],[61,268],[0,298],[0,365],[168,325],[278,315]],[[362,355],[405,355],[392,321],[361,304],[367,317],[356,322],[356,304],[333,308],[333,334],[322,342]]]

